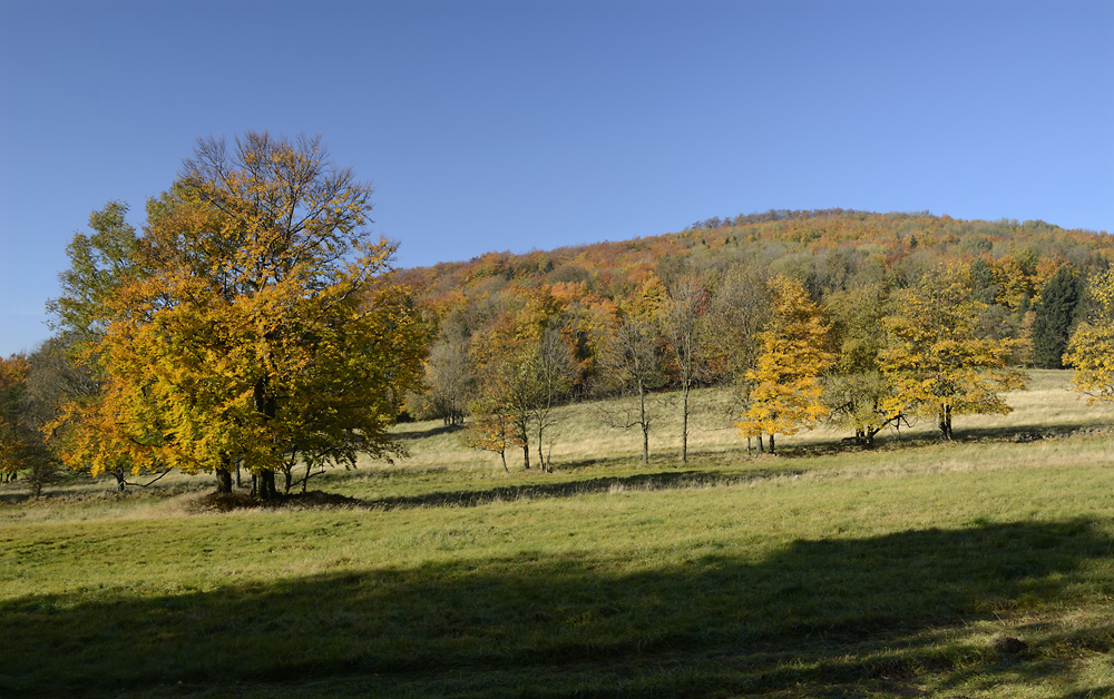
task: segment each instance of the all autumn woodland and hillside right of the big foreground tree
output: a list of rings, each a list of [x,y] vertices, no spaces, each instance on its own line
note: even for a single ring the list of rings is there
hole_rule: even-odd
[[[407,407],[470,415],[463,439],[505,467],[518,449],[548,467],[555,402],[622,394],[637,408],[603,419],[637,429],[648,461],[646,396],[663,390],[685,461],[690,394],[707,385],[732,388],[749,447],[821,422],[866,445],[913,419],[951,439],[954,416],[1008,412],[1025,367],[1071,363],[1102,394],[1111,259],[1107,236],[1043,221],[837,209],[399,270],[439,328]],[[560,371],[531,368],[541,355]]]

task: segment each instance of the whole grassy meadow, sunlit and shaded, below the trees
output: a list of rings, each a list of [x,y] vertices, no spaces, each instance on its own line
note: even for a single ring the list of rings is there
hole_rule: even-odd
[[[948,444],[751,456],[709,390],[687,464],[656,396],[649,465],[614,401],[553,473],[413,423],[278,508],[2,484],[0,698],[1114,697],[1114,406],[1067,378]]]

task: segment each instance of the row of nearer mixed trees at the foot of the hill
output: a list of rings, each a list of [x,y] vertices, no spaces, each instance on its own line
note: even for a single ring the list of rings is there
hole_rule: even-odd
[[[1114,314],[1104,299],[1112,274],[1082,287],[1085,319],[1074,327],[1057,291],[1071,274],[1057,272],[1027,312],[1027,325],[1046,326],[1046,335],[1023,337],[1004,331],[994,306],[980,301],[976,268],[955,260],[912,286],[862,284],[821,299],[800,279],[742,266],[681,277],[628,305],[561,303],[545,288],[505,294],[442,319],[426,393],[411,394],[408,405],[446,424],[471,415],[465,440],[499,454],[504,467],[507,452],[521,449],[529,469],[531,445],[536,463],[548,467],[554,405],[616,395],[635,396],[636,407],[605,411],[604,421],[637,427],[648,462],[654,416],[646,397],[665,388],[680,396],[686,461],[690,393],[705,385],[731,388],[734,425],[749,449],[772,452],[778,435],[820,423],[869,446],[882,430],[913,419],[932,420],[950,440],[956,416],[1009,412],[1003,394],[1025,387],[1036,337],[1076,367],[1081,390],[1110,396]]]

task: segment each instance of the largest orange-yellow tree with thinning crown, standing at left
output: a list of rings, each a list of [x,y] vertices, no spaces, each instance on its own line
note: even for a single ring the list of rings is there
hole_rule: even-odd
[[[380,285],[393,246],[365,232],[370,194],[316,139],[202,140],[148,206],[145,274],[102,304],[104,394],[56,425],[65,460],[215,471],[222,491],[243,464],[270,498],[295,462],[401,453],[387,430],[424,328]]]

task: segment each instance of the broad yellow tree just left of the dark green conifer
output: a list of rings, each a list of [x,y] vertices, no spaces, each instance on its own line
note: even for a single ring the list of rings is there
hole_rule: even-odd
[[[895,292],[890,308],[880,353],[889,382],[885,412],[934,417],[940,436],[950,440],[955,415],[1010,411],[1000,394],[1026,384],[1025,374],[1009,366],[1018,341],[980,336],[986,304],[973,298],[968,267],[925,275]]]

